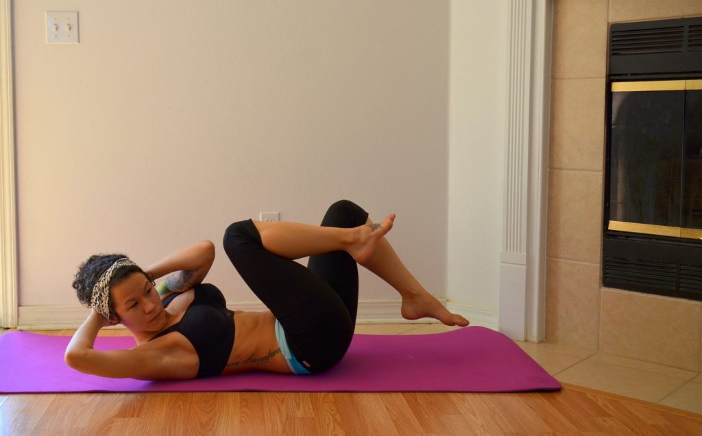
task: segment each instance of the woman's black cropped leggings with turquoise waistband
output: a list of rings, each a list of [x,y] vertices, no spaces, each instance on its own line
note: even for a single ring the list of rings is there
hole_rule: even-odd
[[[367,219],[361,207],[340,200],[326,211],[322,226],[356,227]],[[291,352],[310,372],[324,372],[341,360],[353,337],[358,308],[358,267],[350,254],[316,254],[305,268],[265,250],[251,219],[227,227],[224,250],[246,285],[280,322]]]

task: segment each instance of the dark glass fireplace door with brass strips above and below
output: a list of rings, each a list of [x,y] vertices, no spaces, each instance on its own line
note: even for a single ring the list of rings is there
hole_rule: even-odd
[[[702,80],[611,83],[609,230],[702,238]]]

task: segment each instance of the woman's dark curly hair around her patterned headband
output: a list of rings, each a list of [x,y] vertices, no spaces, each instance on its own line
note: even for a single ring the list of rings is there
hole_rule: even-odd
[[[73,280],[73,289],[76,289],[76,295],[78,301],[85,306],[90,307],[91,297],[93,296],[93,287],[95,283],[100,280],[102,273],[107,271],[114,262],[123,257],[127,257],[124,254],[93,254],[93,256],[88,257],[88,260],[84,261],[79,267]],[[136,265],[127,265],[119,268],[112,275],[109,286],[119,285],[122,281],[126,280],[132,273],[142,273],[147,280],[153,282],[149,275],[144,272],[142,268]],[[110,315],[114,315],[119,319],[117,313],[114,312],[114,306],[112,304],[112,294],[110,294]]]

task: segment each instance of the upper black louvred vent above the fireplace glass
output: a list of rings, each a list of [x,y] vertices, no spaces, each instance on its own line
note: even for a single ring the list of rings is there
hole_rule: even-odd
[[[616,23],[609,29],[609,76],[698,75],[700,51],[702,17]]]

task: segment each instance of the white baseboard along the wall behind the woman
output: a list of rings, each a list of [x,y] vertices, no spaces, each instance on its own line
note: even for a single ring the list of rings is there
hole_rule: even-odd
[[[460,313],[470,320],[470,325],[480,325],[497,329],[497,308],[465,304],[459,301],[439,299],[449,311]],[[438,322],[431,318],[405,320],[400,315],[402,300],[361,300],[358,304],[357,324],[410,324],[418,322]],[[230,310],[264,311],[265,306],[258,301],[244,301],[227,304]],[[20,330],[62,330],[77,329],[87,318],[89,309],[78,305],[20,306],[18,329]],[[108,328],[122,328],[108,327]]]

